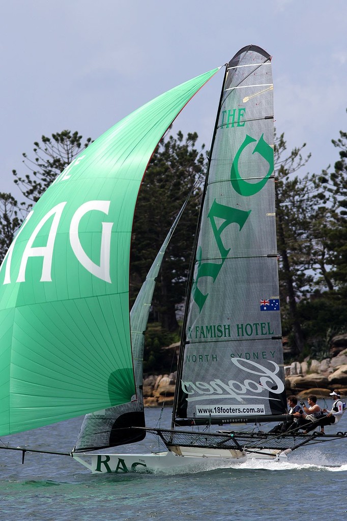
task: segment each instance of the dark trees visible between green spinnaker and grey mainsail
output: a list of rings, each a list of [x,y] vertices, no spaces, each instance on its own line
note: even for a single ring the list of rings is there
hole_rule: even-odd
[[[131,252],[132,300],[140,289],[183,202],[190,201],[171,238],[153,297],[152,319],[169,331],[178,327],[175,307],[181,303],[199,214],[204,157],[195,148],[196,133],[169,136],[156,148],[144,177],[135,212]]]

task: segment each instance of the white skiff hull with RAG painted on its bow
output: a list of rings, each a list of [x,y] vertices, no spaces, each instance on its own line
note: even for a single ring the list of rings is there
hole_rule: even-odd
[[[232,463],[244,462],[246,455],[229,454],[224,451],[213,452],[214,449],[200,449],[199,454],[179,456],[173,452],[157,452],[151,454],[73,454],[78,461],[93,474],[124,474],[128,472],[141,473],[175,473],[189,470],[208,470],[216,467],[230,466]],[[88,460],[88,461],[86,461]]]

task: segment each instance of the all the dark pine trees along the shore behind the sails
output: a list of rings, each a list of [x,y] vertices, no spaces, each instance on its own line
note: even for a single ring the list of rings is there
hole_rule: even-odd
[[[153,334],[146,350],[151,370],[162,360],[160,343],[177,330],[175,308],[184,299],[199,214],[205,157],[196,133],[169,135],[156,148],[138,197],[131,251],[131,301],[137,295],[159,247],[184,200],[190,202],[168,246],[153,299]],[[0,259],[26,212],[86,146],[78,132],[44,135],[33,155],[23,153],[27,173],[13,170],[25,201],[0,193]],[[347,133],[332,140],[334,166],[319,175],[303,173],[305,144],[287,151],[284,134],[275,137],[277,242],[283,334],[297,353],[326,352],[333,334],[347,324]],[[160,326],[159,326],[160,324]],[[158,329],[159,328],[159,329]],[[170,337],[171,338],[171,337]],[[149,358],[148,358],[149,360]],[[154,365],[153,365],[154,364]],[[152,367],[153,366],[153,367]]]

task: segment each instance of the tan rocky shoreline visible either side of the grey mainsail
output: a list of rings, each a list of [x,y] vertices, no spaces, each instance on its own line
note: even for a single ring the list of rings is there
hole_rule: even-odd
[[[332,389],[340,389],[347,396],[347,349],[321,362],[306,358],[304,362],[293,362],[284,366],[287,395],[295,394],[306,398],[315,394],[327,398]],[[162,407],[173,405],[176,388],[176,372],[169,375],[149,375],[143,380],[144,405]]]

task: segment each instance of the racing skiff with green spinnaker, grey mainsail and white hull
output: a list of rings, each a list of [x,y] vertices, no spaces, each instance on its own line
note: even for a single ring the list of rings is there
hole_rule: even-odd
[[[218,70],[158,96],[105,132],[61,172],[24,220],[0,267],[1,436],[85,414],[70,454],[99,474],[183,470],[250,456],[280,458],[317,442],[315,433],[275,436],[259,428],[288,416],[271,57],[254,45],[226,64],[196,234],[172,426],[145,425],[143,332],[155,279],[181,213],[130,312],[135,203],[158,141]],[[233,424],[251,427],[218,430]],[[148,431],[166,451],[100,452],[141,441]]]

